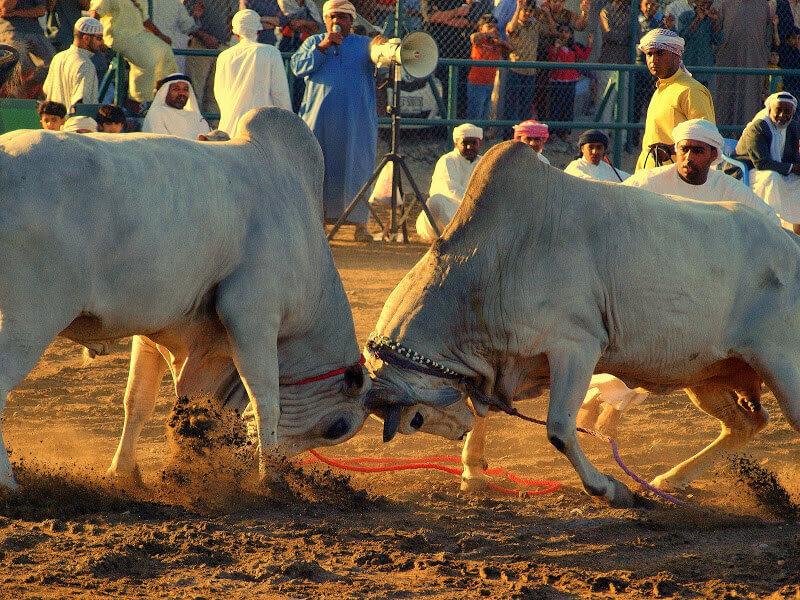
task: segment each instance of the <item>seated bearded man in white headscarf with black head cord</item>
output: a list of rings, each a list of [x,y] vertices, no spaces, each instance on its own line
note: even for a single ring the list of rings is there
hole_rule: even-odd
[[[144,133],[165,133],[196,140],[211,128],[200,114],[192,84],[182,73],[174,73],[157,83],[155,98],[142,123]]]

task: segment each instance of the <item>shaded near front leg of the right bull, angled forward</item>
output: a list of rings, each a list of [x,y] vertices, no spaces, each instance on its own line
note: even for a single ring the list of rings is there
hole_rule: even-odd
[[[547,411],[547,438],[572,463],[591,496],[603,496],[611,506],[631,507],[635,496],[622,483],[598,471],[586,458],[575,429],[599,353],[587,355],[587,346],[573,352],[548,355],[550,361],[550,405]]]

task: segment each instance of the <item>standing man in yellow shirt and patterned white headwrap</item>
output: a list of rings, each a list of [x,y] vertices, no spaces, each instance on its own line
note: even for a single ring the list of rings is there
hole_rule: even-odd
[[[672,130],[689,119],[716,123],[714,102],[706,87],[692,78],[683,66],[683,38],[669,29],[653,29],[639,41],[650,73],[658,78],[656,91],[647,107],[642,153],[636,170],[649,169],[662,162],[673,162],[670,149],[658,156],[655,144],[672,147]]]

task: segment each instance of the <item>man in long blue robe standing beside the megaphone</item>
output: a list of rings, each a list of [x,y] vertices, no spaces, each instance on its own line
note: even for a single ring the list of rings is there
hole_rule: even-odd
[[[370,48],[386,42],[351,33],[355,7],[328,0],[322,7],[327,33],[312,35],[292,56],[292,71],[306,80],[300,116],[322,147],[325,159],[323,213],[338,219],[375,168],[378,118]],[[360,203],[352,213],[356,241],[372,240],[369,212]]]

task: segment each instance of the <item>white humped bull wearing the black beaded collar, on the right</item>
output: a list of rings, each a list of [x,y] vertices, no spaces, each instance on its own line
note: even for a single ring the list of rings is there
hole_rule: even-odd
[[[384,438],[399,428],[460,439],[474,423],[458,402],[468,390],[485,415],[480,395],[510,405],[549,386],[548,439],[589,494],[630,506],[631,492],[578,444],[592,374],[686,387],[722,433],[654,481],[683,487],[766,425],[762,380],[800,430],[799,241],[741,205],[579,180],[524,144],[501,144],[387,300],[371,344],[386,360],[368,362],[368,402]]]

